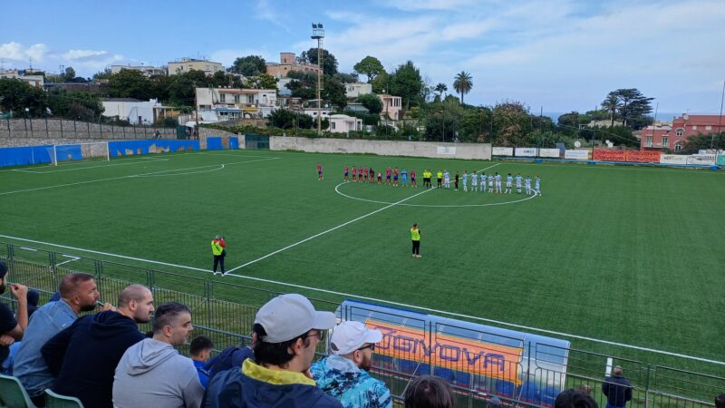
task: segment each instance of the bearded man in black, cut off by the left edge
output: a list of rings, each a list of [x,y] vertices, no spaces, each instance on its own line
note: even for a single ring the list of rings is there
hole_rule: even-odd
[[[10,345],[15,340],[23,340],[23,334],[28,327],[28,288],[20,284],[8,285],[7,264],[0,261],[0,295],[5,293],[8,286],[10,293],[17,299],[17,316],[13,315],[10,307],[0,303],[0,363],[10,355]]]

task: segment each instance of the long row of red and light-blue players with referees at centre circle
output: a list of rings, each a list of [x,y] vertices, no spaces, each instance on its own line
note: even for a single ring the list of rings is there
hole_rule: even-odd
[[[357,168],[353,166],[353,182],[374,182],[376,179],[375,171],[371,168],[361,167]],[[411,169],[411,187],[417,188],[418,184],[416,182],[416,172],[415,170]],[[438,183],[437,188],[439,189],[450,189],[450,173],[448,170],[440,171],[438,170],[438,173],[436,173]],[[541,195],[541,178],[539,176],[536,176],[536,179],[534,181],[534,188],[531,188],[531,178],[529,176],[522,177],[521,173],[518,173],[516,176],[513,176],[511,173],[508,173],[506,178],[506,189],[504,190],[502,188],[502,179],[503,177],[496,172],[495,174],[488,174],[486,175],[485,172],[482,172],[480,175],[478,175],[478,172],[472,172],[468,173],[467,170],[463,171],[463,176],[461,177],[459,175],[459,172],[456,172],[456,175],[454,176],[454,189],[458,191],[459,189],[459,181],[462,181],[463,191],[469,191],[469,177],[470,177],[470,191],[481,191],[481,192],[490,192],[490,193],[498,193],[498,194],[511,194],[513,191],[513,185],[514,181],[516,181],[516,188],[517,193],[521,194],[522,191],[522,185],[524,187],[524,191],[526,192],[527,196],[530,196],[532,194],[538,194]],[[430,179],[432,178],[432,172],[428,169],[423,171],[423,185],[425,188],[430,189],[431,183]],[[405,169],[399,170],[397,167],[395,168],[386,168],[385,169],[385,180],[384,183],[386,185],[391,185],[393,187],[398,187],[399,183],[398,180],[401,180],[401,186],[402,187],[408,187],[408,171]],[[344,167],[344,175],[343,180],[345,181],[351,181],[350,179],[350,167],[345,166]],[[377,173],[377,182],[378,184],[383,183],[382,180],[382,173]]]

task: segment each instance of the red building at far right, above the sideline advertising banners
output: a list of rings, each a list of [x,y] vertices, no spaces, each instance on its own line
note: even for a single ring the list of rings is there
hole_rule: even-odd
[[[640,147],[646,150],[669,149],[681,151],[685,142],[697,134],[725,131],[725,118],[719,115],[691,115],[683,113],[672,119],[670,125],[652,125],[642,130]]]

